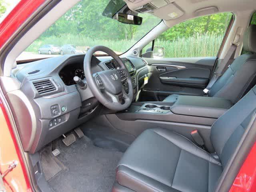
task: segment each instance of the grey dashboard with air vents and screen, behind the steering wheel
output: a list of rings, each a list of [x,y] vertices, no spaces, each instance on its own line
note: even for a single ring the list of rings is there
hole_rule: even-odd
[[[150,66],[134,57],[122,58],[133,84],[134,99],[138,84],[151,72]],[[110,57],[92,57],[91,71],[118,69],[120,66]],[[8,93],[11,103],[22,106],[22,114],[28,121],[18,129],[26,152],[35,153],[62,134],[102,113],[103,107],[89,87],[78,89],[74,76],[84,81],[84,55],[64,55],[26,64],[19,64],[12,76],[20,82],[22,94]],[[126,84],[123,86],[126,88]],[[24,99],[26,98],[26,99]],[[16,116],[20,111],[11,106]],[[28,125],[30,123],[30,125]],[[31,129],[28,129],[31,127]]]

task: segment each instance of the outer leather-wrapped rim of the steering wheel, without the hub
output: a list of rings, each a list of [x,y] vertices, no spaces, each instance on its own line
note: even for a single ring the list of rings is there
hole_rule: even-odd
[[[121,67],[121,70],[123,70],[126,73],[126,75],[127,75],[126,81],[128,82],[129,92],[128,92],[128,94],[126,94],[127,97],[124,99],[124,104],[121,104],[120,102],[114,102],[113,100],[111,101],[110,99],[106,98],[106,96],[104,96],[104,94],[102,94],[98,84],[96,83],[95,77],[93,76],[92,71],[91,71],[91,60],[92,60],[93,54],[96,51],[102,51],[102,52],[109,54],[119,64],[119,66]],[[114,72],[114,70],[113,70],[113,72]],[[128,108],[130,106],[130,104],[132,103],[133,86],[132,86],[131,76],[130,76],[126,66],[122,62],[121,58],[110,48],[105,47],[105,46],[94,46],[87,51],[87,53],[84,57],[84,75],[85,75],[86,81],[88,83],[88,87],[94,94],[95,98],[106,108],[119,111],[119,110],[124,110],[124,109]],[[97,75],[97,73],[94,75]],[[104,84],[104,86],[107,86],[107,85]],[[124,89],[122,88],[122,92],[123,91],[124,91]]]

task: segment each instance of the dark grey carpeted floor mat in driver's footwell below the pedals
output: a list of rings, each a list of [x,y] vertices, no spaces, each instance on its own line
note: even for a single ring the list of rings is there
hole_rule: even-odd
[[[85,136],[66,147],[57,142],[62,169],[48,183],[55,192],[110,192],[122,152],[93,145]]]

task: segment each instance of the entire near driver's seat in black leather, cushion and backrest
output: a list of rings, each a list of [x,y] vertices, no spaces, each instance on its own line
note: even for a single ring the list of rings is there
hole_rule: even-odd
[[[176,132],[145,130],[120,160],[113,192],[214,191],[255,108],[256,86],[212,125],[212,154]]]

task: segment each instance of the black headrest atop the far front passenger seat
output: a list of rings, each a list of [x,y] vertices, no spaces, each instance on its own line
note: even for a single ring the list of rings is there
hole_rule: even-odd
[[[244,34],[244,51],[256,53],[256,25],[250,25]]]

